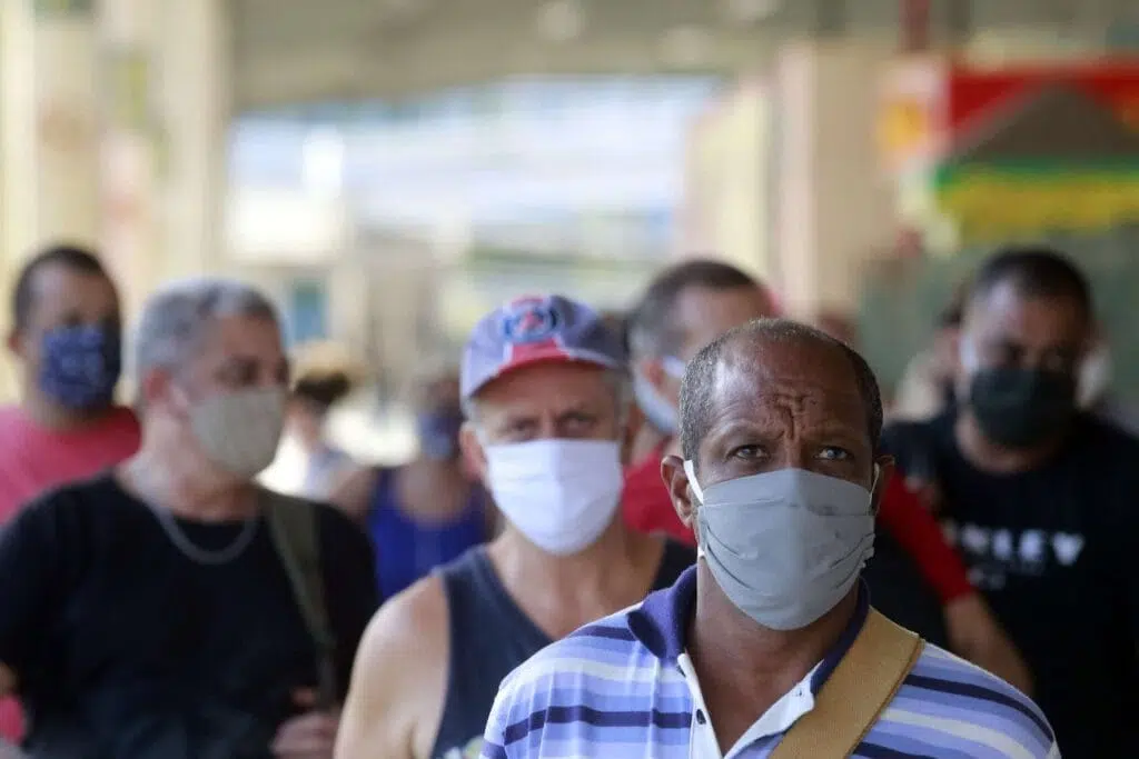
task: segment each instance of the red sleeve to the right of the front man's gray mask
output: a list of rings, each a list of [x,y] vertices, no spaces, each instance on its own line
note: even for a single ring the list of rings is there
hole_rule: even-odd
[[[937,521],[907,489],[901,476],[886,482],[878,518],[917,563],[942,604],[973,592],[961,558],[945,543]]]

